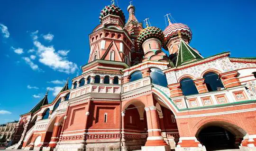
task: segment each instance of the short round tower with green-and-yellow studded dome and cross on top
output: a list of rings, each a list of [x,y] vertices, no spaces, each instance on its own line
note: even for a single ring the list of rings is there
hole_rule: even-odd
[[[154,26],[148,26],[147,19],[146,26],[146,28],[140,31],[137,38],[138,49],[142,47],[144,51],[144,59],[142,62],[148,60],[168,62],[168,57],[165,52],[161,50],[162,47],[165,48],[162,30]]]

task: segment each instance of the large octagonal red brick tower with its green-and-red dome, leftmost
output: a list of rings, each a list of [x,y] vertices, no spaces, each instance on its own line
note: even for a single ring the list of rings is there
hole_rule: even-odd
[[[132,40],[123,29],[125,16],[114,3],[104,7],[98,25],[90,37],[90,58],[88,63],[101,59],[125,62],[130,65]]]

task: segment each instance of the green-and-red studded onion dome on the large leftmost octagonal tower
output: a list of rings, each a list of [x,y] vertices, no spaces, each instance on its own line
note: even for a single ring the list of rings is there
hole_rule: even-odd
[[[107,16],[107,15],[119,16],[121,18],[121,20],[125,23],[125,16],[124,16],[124,13],[123,13],[122,9],[117,7],[115,4],[105,6],[105,8],[103,8],[101,10],[101,14],[100,14],[100,17],[99,17],[100,22],[101,22],[102,18]]]

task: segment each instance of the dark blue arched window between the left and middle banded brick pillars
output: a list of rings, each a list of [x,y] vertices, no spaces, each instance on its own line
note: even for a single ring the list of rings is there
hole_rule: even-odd
[[[181,89],[183,95],[198,94],[194,81],[188,77],[181,80]]]

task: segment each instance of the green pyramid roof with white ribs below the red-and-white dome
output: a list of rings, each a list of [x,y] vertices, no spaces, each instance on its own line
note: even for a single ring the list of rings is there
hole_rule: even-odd
[[[181,34],[179,34],[179,37],[180,47],[178,50],[176,66],[181,66],[185,63],[190,63],[192,61],[203,59],[203,57],[197,51],[193,50],[189,44],[183,41],[183,39],[181,38]]]

